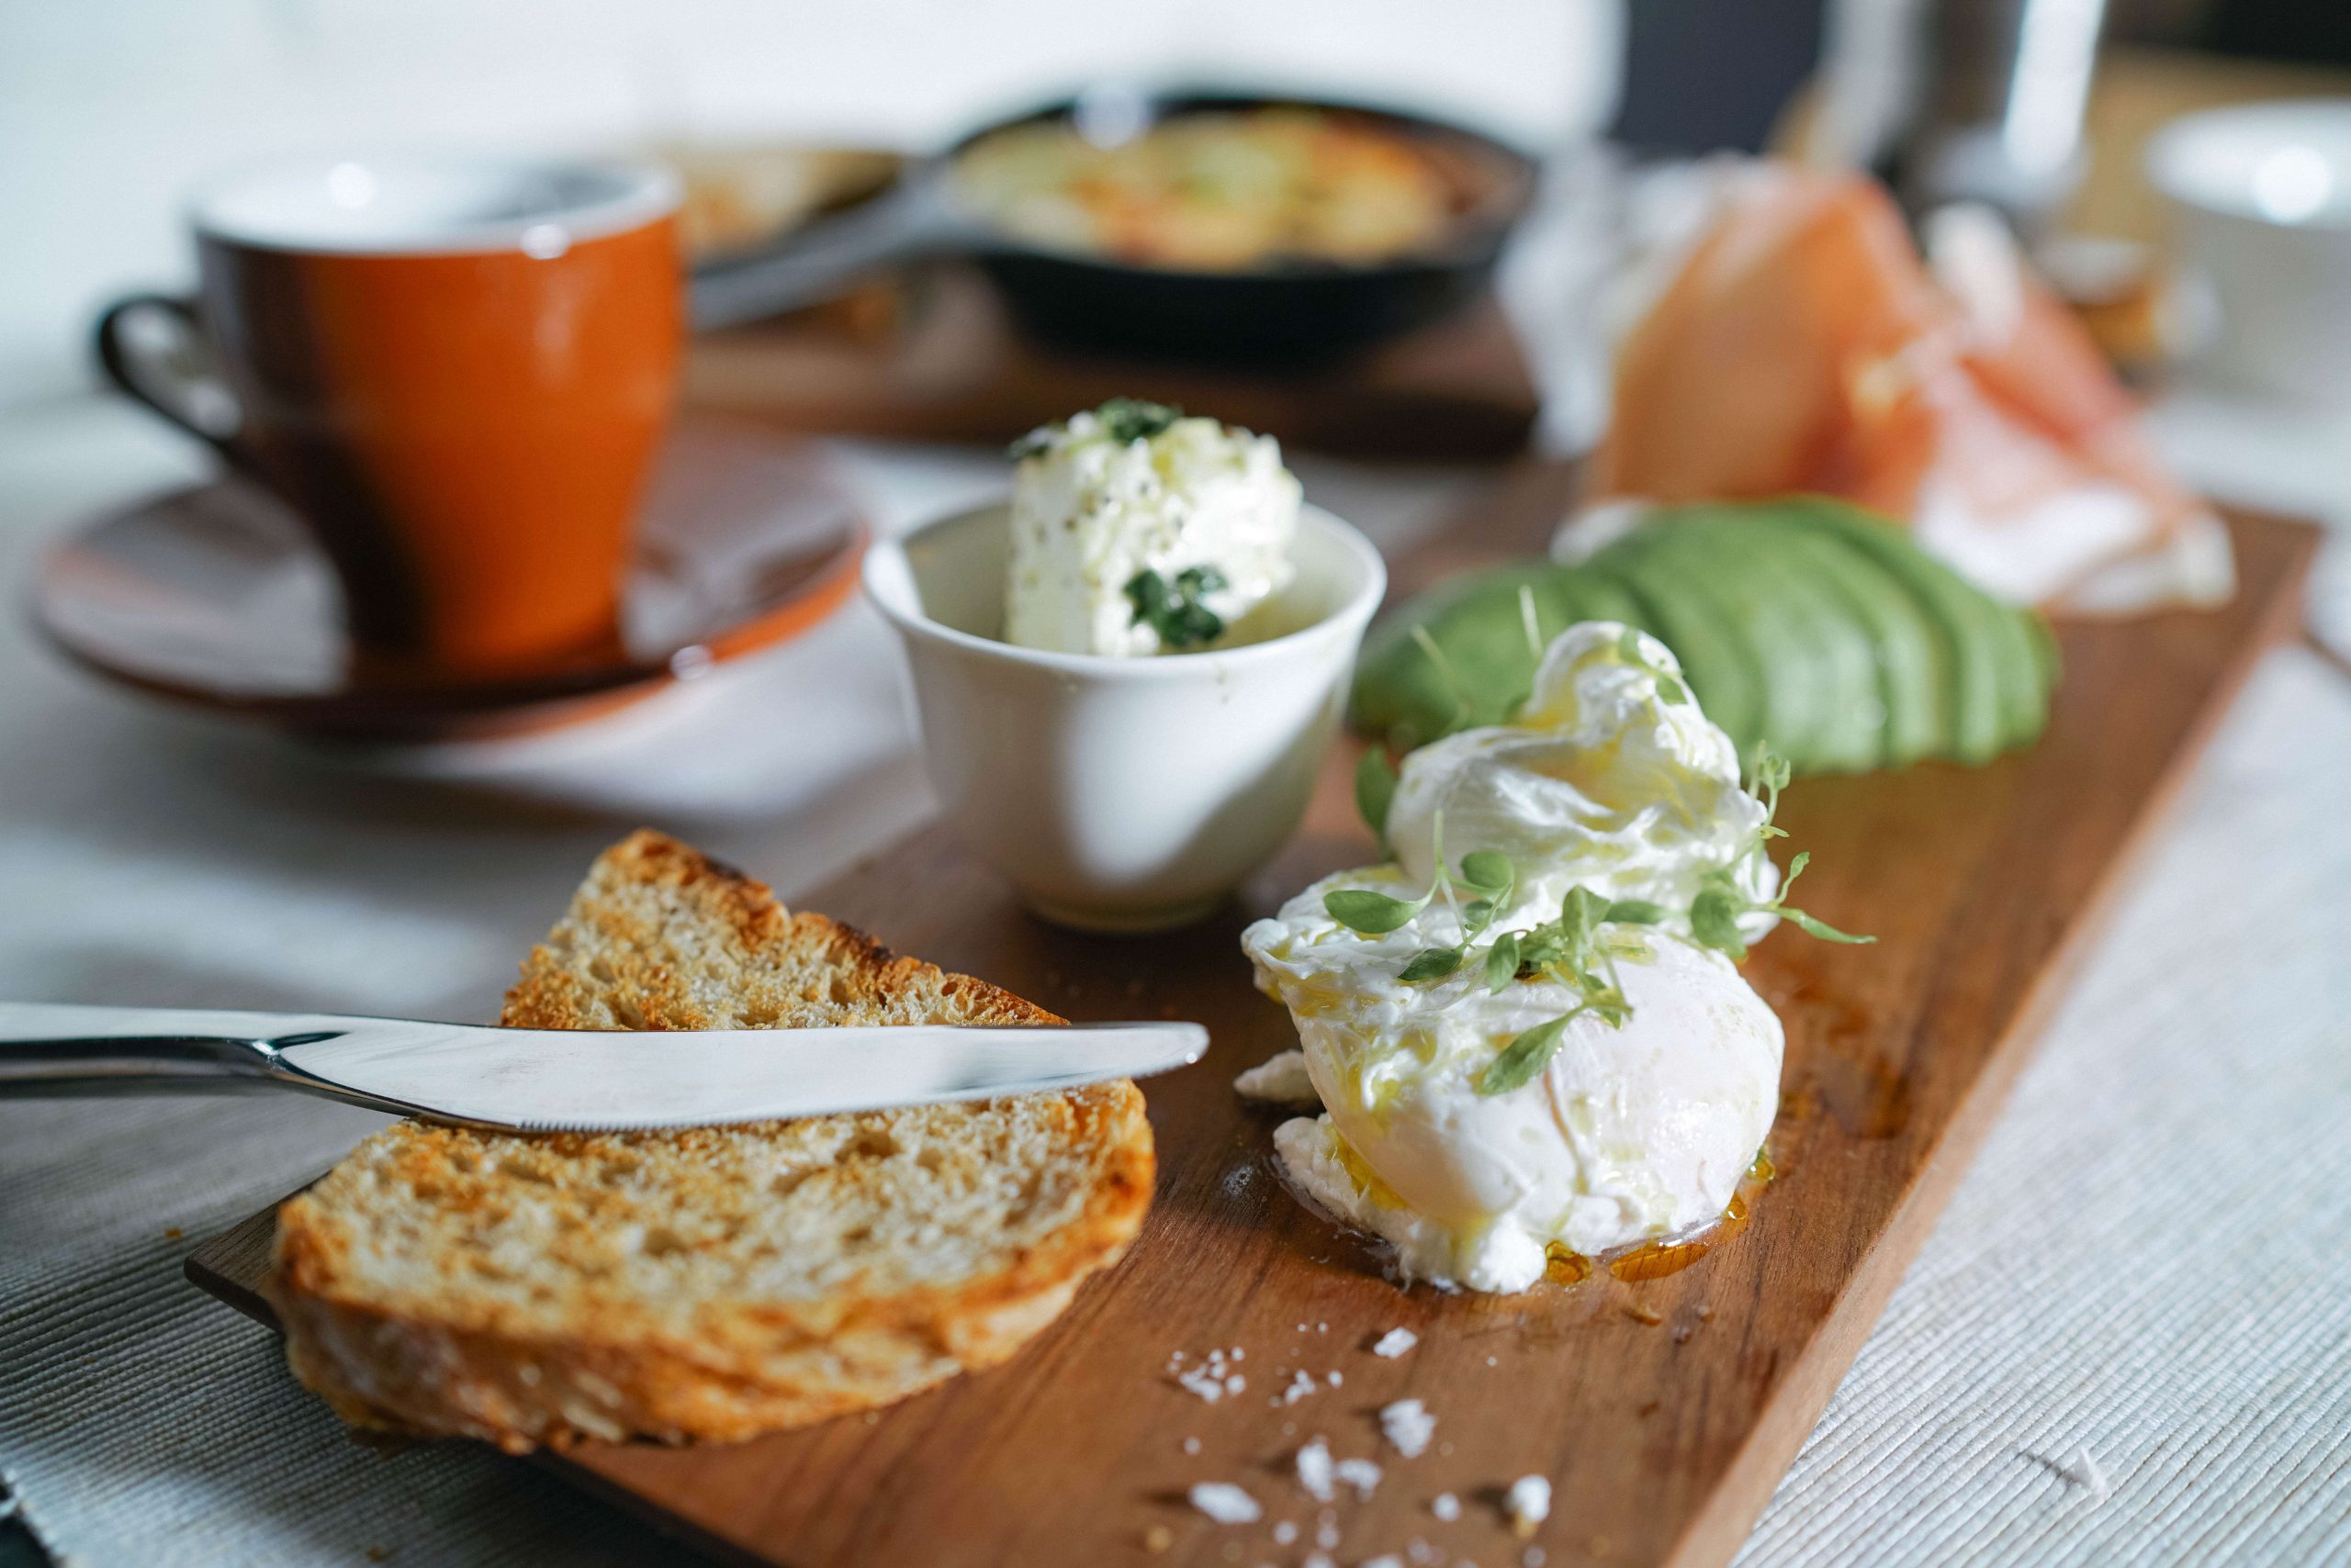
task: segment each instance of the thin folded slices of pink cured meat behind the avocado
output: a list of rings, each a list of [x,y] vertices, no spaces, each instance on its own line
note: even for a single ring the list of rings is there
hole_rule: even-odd
[[[1594,522],[1813,491],[1909,522],[2015,602],[2137,614],[2233,592],[2219,520],[1998,216],[1935,214],[1921,256],[1860,174],[1751,165],[1714,202],[1617,348]]]

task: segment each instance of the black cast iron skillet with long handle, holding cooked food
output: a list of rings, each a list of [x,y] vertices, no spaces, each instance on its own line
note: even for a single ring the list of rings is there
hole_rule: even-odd
[[[955,158],[983,136],[1039,120],[1077,120],[1124,139],[1192,110],[1319,108],[1436,146],[1467,193],[1436,252],[1371,266],[1279,263],[1234,273],[1131,266],[1051,252],[1004,235],[962,207]],[[1535,162],[1493,136],[1359,103],[1241,92],[1096,87],[983,125],[917,160],[886,193],[813,223],[773,249],[722,256],[694,273],[694,324],[736,327],[816,303],[860,273],[915,256],[973,256],[1032,334],[1091,350],[1223,362],[1312,362],[1420,327],[1474,299],[1535,193]]]

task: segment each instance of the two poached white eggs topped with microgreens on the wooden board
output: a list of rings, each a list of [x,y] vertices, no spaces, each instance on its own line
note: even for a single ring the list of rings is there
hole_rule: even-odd
[[[1493,992],[1476,964],[1404,983],[1415,952],[1462,940],[1460,896],[1387,936],[1324,907],[1333,889],[1420,898],[1441,816],[1448,865],[1474,849],[1516,865],[1488,936],[1556,919],[1578,884],[1686,912],[1700,877],[1754,844],[1763,806],[1679,679],[1653,637],[1566,630],[1516,724],[1406,759],[1387,820],[1399,865],[1326,877],[1241,933],[1326,1107],[1274,1133],[1291,1180],[1389,1241],[1415,1279],[1523,1291],[1552,1244],[1603,1253],[1707,1225],[1770,1131],[1780,1020],[1728,959],[1688,940],[1686,917],[1606,926],[1627,1023],[1585,1013],[1535,1079],[1481,1093],[1502,1046],[1570,1013],[1578,992],[1554,978]],[[1770,865],[1740,865],[1768,898]],[[1751,924],[1761,936],[1770,917]]]

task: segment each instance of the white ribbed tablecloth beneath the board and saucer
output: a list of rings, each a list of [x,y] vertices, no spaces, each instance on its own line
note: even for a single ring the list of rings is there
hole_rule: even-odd
[[[844,461],[891,527],[997,482],[990,454]],[[122,409],[0,416],[0,604],[75,515],[193,473]],[[1467,484],[1307,482],[1387,543]],[[106,691],[9,614],[0,994],[487,1018],[637,823],[790,893],[917,820],[896,682],[858,609],[677,703],[390,766]],[[2351,684],[2278,654],[1744,1561],[2351,1559],[2346,776]],[[355,1448],[263,1331],[181,1281],[195,1239],[374,1121],[301,1100],[0,1107],[0,1474],[56,1552],[670,1552],[487,1450]]]

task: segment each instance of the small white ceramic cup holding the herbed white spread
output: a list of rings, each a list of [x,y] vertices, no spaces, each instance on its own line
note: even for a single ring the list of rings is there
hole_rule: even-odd
[[[947,818],[1046,919],[1089,931],[1199,919],[1305,816],[1387,592],[1380,552],[1310,505],[1281,595],[1298,630],[1159,658],[999,642],[1009,559],[1004,505],[865,555],[865,592],[905,642]]]

